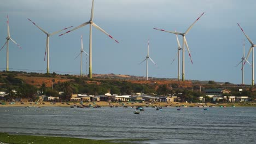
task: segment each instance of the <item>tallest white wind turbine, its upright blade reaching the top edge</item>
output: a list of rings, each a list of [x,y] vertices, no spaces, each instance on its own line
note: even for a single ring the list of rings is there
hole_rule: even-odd
[[[94,26],[95,28],[97,28],[98,30],[100,30],[101,32],[103,32],[104,34],[108,35],[109,38],[112,38],[113,40],[115,40],[111,35],[109,35],[106,31],[104,31],[101,27],[97,26],[96,23],[94,23],[94,0],[92,0],[92,5],[91,5],[91,18],[88,22],[85,22],[83,23],[82,25],[80,26],[77,26],[73,29],[71,29],[70,31],[67,31],[66,33],[69,33],[69,32],[72,32],[74,31],[75,29],[78,29],[78,28],[81,28],[83,26],[86,26],[88,24],[90,24],[90,40],[89,40],[89,77],[90,79],[92,78],[92,49],[91,49],[91,32],[92,32],[92,26]],[[66,34],[66,33],[63,33],[63,34]],[[63,34],[60,34],[59,36],[63,35]],[[119,43],[117,40],[115,40],[117,43]]]

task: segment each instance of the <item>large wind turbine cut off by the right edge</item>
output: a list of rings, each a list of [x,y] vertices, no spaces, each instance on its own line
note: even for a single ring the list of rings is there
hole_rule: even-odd
[[[240,29],[242,30],[243,34],[245,34],[245,31],[243,31],[243,29],[241,28],[239,23],[237,23],[237,25],[240,27]],[[253,41],[248,37],[248,35],[245,34],[245,36],[248,39],[249,43],[251,43],[251,47],[250,47],[249,52],[248,52],[248,54],[246,56],[245,62],[243,62],[243,65],[245,65],[245,63],[246,63],[250,53],[252,52],[252,86],[254,86],[254,49],[253,48],[256,45],[253,44]]]

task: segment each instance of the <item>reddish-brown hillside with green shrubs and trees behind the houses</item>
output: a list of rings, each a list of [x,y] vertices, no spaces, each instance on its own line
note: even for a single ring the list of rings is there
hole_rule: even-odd
[[[38,91],[39,94],[59,97],[68,100],[72,94],[102,95],[105,93],[131,95],[135,93],[146,93],[151,95],[178,95],[182,100],[196,101],[197,97],[205,97],[204,89],[229,89],[231,95],[248,96],[254,99],[256,93],[254,87],[246,85],[234,85],[229,82],[197,81],[176,79],[163,79],[150,77],[146,81],[144,77],[114,74],[94,74],[93,79],[80,77],[78,75],[40,74],[26,73],[24,71],[0,72],[0,91],[9,93],[11,97],[30,97]],[[238,89],[243,91],[239,92]],[[17,91],[14,93],[12,90]],[[37,93],[38,94],[38,93]]]

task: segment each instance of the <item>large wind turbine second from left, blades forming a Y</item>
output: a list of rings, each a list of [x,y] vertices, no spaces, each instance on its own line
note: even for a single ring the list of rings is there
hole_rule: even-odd
[[[29,21],[31,21],[30,19],[28,19]],[[37,26],[36,25],[36,23],[34,23],[33,21],[31,21],[37,28],[39,28],[43,33],[45,33],[46,34],[46,47],[45,47],[45,53],[44,53],[44,61],[45,61],[45,56],[46,56],[46,53],[47,53],[47,74],[49,74],[49,63],[50,63],[50,61],[49,61],[49,56],[50,56],[50,54],[49,54],[49,41],[50,41],[50,36],[51,35],[54,35],[54,34],[57,34],[57,33],[59,33],[59,32],[61,32],[61,31],[63,31],[63,30],[65,30],[65,29],[68,29],[68,28],[71,28],[71,27],[73,27],[73,26],[71,26],[71,27],[67,27],[67,28],[64,28],[64,29],[61,29],[60,31],[56,31],[56,32],[53,32],[53,33],[48,33],[48,32],[46,32],[46,31],[44,31],[44,29],[42,29],[42,28],[40,28],[39,26]]]

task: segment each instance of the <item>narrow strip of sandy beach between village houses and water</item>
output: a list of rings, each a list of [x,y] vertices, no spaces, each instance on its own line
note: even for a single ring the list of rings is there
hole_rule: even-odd
[[[27,103],[8,103],[6,102],[5,105],[1,105],[0,107],[8,107],[8,106],[72,106],[72,105],[81,105],[80,103],[69,102],[69,103],[50,103],[50,102],[43,102],[43,103],[34,103],[34,102],[27,102]],[[183,107],[197,107],[197,106],[256,106],[256,103],[249,103],[249,104],[242,104],[242,103],[224,103],[224,104],[212,104],[212,103],[108,103],[106,101],[100,102],[91,102],[91,103],[83,103],[83,105],[88,106],[162,106],[162,107],[176,107],[176,106],[183,106]]]

